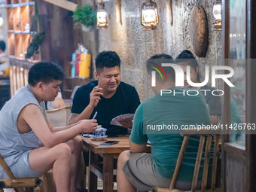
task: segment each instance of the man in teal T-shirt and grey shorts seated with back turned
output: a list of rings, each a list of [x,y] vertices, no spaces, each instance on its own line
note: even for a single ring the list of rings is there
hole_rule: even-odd
[[[154,186],[169,187],[183,141],[179,134],[180,128],[184,125],[197,127],[210,123],[209,108],[203,94],[194,93],[194,89],[175,87],[174,69],[162,69],[161,63],[173,63],[172,56],[155,55],[147,62],[150,83],[155,82],[151,89],[156,95],[142,102],[136,110],[130,151],[123,151],[118,158],[119,192],[148,191]],[[165,90],[164,94],[161,90]],[[151,154],[144,153],[148,140],[151,142]],[[190,189],[199,140],[198,136],[192,137],[187,145],[175,186],[181,190]]]

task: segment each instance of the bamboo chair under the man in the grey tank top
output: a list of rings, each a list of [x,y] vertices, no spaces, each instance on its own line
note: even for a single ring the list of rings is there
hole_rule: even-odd
[[[14,188],[17,192],[25,192],[24,187],[40,187],[43,183],[40,178],[16,178],[1,155],[0,165],[9,177],[8,179],[0,179],[1,192],[4,192],[4,188]]]

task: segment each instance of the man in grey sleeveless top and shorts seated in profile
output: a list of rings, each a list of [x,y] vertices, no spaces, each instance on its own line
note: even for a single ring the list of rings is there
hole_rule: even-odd
[[[40,176],[53,169],[56,190],[75,192],[81,159],[80,133],[91,133],[96,120],[51,126],[44,101],[58,95],[64,73],[52,62],[38,62],[29,70],[29,84],[0,111],[0,154],[17,178]],[[8,178],[0,167],[0,178]]]

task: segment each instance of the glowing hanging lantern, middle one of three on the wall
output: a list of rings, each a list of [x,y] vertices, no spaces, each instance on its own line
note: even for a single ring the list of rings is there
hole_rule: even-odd
[[[141,17],[142,26],[144,26],[146,30],[157,29],[157,24],[159,23],[157,4],[151,0],[146,0],[146,2],[142,4]]]

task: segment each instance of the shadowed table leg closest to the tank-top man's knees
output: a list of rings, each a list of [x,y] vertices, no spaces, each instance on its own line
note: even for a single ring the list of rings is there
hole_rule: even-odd
[[[89,151],[89,170],[90,166],[93,164],[98,164],[98,154],[94,154],[92,151]],[[97,185],[98,185],[98,178],[97,176],[89,171],[89,192],[96,192],[97,191]]]

